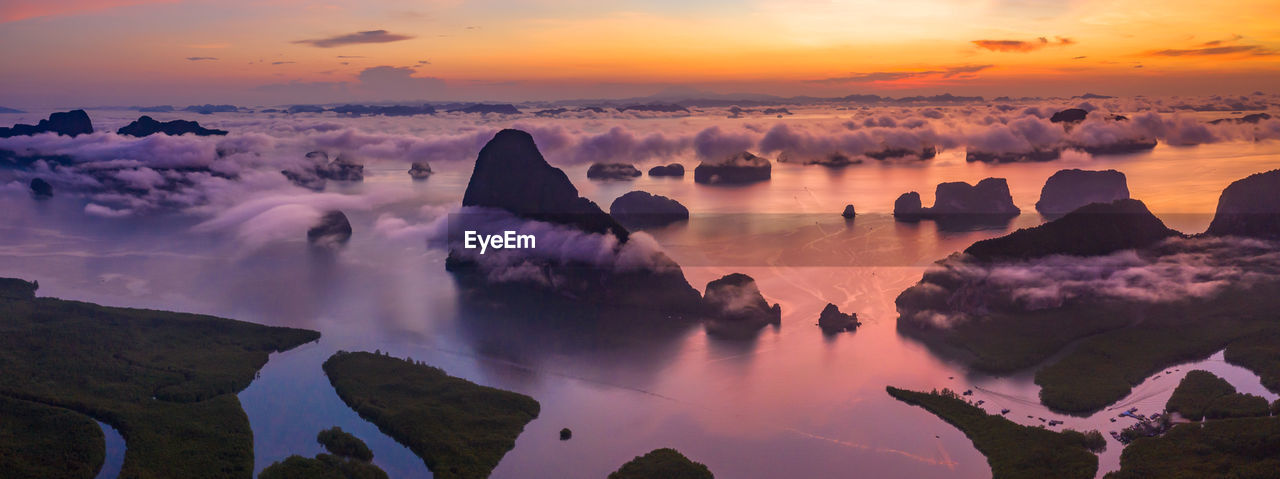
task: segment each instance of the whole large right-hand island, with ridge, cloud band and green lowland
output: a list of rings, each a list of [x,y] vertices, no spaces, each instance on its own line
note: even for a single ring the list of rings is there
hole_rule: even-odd
[[[1274,242],[1256,240],[1268,232],[1253,228],[1277,206],[1263,190],[1248,200],[1224,191],[1226,205],[1262,211],[1244,215],[1239,229],[1188,237],[1140,201],[1119,200],[979,241],[899,296],[897,329],[995,373],[1041,364],[1075,342],[1036,371],[1042,402],[1060,411],[1096,411],[1151,373],[1224,347],[1228,361],[1277,387],[1280,256]],[[1220,225],[1239,211],[1219,210]]]

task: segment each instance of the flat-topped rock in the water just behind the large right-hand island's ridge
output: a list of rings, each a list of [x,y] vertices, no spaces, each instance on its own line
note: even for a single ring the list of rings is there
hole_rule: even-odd
[[[1108,170],[1064,169],[1053,173],[1041,190],[1036,211],[1057,218],[1093,202],[1129,199],[1124,173]]]

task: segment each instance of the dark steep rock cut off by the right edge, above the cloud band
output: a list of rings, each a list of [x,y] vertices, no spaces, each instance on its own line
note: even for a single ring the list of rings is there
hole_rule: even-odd
[[[1222,190],[1206,234],[1280,240],[1280,169],[1251,174]]]

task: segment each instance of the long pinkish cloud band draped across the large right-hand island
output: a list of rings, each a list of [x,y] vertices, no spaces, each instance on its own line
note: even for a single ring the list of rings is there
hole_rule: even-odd
[[[923,309],[902,319],[948,328],[991,310],[1036,311],[1074,302],[1139,304],[1213,297],[1280,279],[1280,245],[1245,238],[1171,238],[1149,251],[1047,256],[996,264],[952,256],[908,289]]]

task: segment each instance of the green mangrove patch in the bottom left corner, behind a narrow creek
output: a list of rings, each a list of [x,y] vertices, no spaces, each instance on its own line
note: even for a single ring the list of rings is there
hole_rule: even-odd
[[[0,475],[92,478],[105,448],[102,429],[86,415],[0,396]]]

